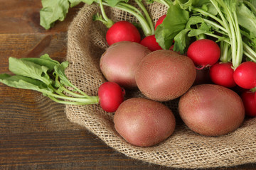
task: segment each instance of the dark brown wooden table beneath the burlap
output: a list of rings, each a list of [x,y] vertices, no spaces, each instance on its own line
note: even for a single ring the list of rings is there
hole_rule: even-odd
[[[48,53],[63,60],[67,29],[79,6],[50,30],[39,25],[40,0],[0,0],[0,73],[9,73],[8,58]],[[170,169],[130,159],[107,147],[95,135],[70,123],[61,104],[43,110],[36,91],[0,84],[0,169]],[[56,125],[55,119],[62,120]],[[255,164],[223,169],[256,169]]]

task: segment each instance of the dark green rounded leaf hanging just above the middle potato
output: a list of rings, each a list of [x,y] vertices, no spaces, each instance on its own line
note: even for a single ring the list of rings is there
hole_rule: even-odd
[[[183,10],[179,5],[171,5],[163,23],[156,28],[156,42],[158,42],[163,49],[169,49],[174,37],[181,30],[186,28],[188,18],[188,11]]]

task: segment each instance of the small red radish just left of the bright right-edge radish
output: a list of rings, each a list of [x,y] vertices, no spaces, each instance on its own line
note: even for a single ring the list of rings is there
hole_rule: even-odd
[[[213,83],[228,88],[236,86],[233,73],[231,62],[217,62],[210,67],[210,79]]]

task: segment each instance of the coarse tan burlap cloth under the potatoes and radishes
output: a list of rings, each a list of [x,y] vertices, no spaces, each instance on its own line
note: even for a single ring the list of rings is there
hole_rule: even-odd
[[[166,7],[156,2],[146,5],[146,8],[154,23],[166,13]],[[113,21],[137,22],[129,13],[109,7],[105,10]],[[92,21],[97,12],[100,12],[97,4],[85,4],[68,28],[67,60],[70,66],[66,74],[73,84],[91,96],[97,96],[98,87],[106,81],[100,72],[99,61],[107,48],[107,28],[100,21]],[[132,96],[143,97],[139,91],[127,91],[127,98]],[[65,112],[71,122],[90,130],[108,146],[151,164],[193,169],[256,162],[256,118],[245,120],[242,127],[228,135],[205,137],[183,125],[178,118],[176,103],[166,103],[176,114],[176,130],[171,137],[154,147],[134,147],[125,142],[114,130],[113,113],[105,113],[99,105],[68,105]]]

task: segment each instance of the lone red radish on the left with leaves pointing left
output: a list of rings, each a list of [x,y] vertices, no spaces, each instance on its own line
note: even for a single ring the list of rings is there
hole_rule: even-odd
[[[119,105],[124,101],[125,91],[118,84],[107,81],[98,89],[100,106],[104,111],[117,111]]]

